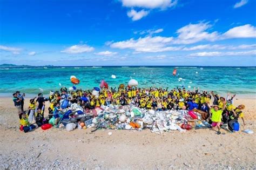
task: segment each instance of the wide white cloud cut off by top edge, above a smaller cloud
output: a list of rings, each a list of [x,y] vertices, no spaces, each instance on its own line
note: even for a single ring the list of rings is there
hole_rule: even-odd
[[[166,9],[170,8],[172,6],[175,6],[177,4],[177,0],[122,0],[123,6],[126,7],[139,7],[139,8],[148,8],[148,9],[154,9],[154,8],[160,8],[160,9]]]

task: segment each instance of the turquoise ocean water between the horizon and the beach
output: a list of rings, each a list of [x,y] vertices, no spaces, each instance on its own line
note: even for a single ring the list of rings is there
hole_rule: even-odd
[[[177,75],[173,76],[173,69]],[[116,79],[111,75],[116,75]],[[60,89],[59,83],[71,87],[70,76],[76,76],[79,89],[99,87],[104,79],[109,86],[127,84],[133,78],[139,87],[185,87],[193,90],[213,90],[218,93],[255,94],[255,67],[183,67],[183,66],[113,66],[113,67],[33,67],[0,69],[0,93],[13,93],[17,90],[37,94],[39,88],[44,94]],[[182,79],[181,79],[182,78]]]

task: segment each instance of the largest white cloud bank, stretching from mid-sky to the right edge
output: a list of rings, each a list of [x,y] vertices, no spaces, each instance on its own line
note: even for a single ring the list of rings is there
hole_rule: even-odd
[[[153,36],[153,33],[161,32],[163,29],[158,30],[144,30],[137,31],[143,35],[149,33],[145,37],[139,37],[138,39],[127,39],[120,42],[107,42],[106,45],[118,49],[132,49],[133,53],[141,52],[164,52],[164,51],[192,51],[192,50],[235,50],[235,49],[252,49],[255,44],[251,45],[197,45],[186,47],[184,45],[198,43],[202,41],[214,42],[217,40],[231,39],[231,38],[254,38],[256,37],[256,29],[250,24],[234,27],[225,33],[219,33],[217,31],[208,32],[212,25],[209,23],[199,22],[198,24],[188,24],[178,29],[176,33],[177,37],[162,37]],[[177,44],[183,46],[176,46]]]

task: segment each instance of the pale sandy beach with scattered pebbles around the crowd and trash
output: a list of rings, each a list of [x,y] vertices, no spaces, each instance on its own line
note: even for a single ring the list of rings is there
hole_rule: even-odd
[[[28,108],[28,101],[26,98],[24,108]],[[156,134],[149,130],[91,133],[90,128],[72,132],[37,128],[24,133],[18,129],[12,98],[2,97],[0,169],[253,169],[256,100],[238,96],[234,104],[245,104],[246,125],[235,133],[222,130],[221,135],[208,129]],[[245,129],[253,130],[254,134],[241,132]]]

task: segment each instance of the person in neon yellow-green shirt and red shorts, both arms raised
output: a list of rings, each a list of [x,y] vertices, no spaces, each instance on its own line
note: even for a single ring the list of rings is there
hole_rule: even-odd
[[[208,103],[207,103],[208,104]],[[220,132],[220,124],[221,124],[221,115],[223,113],[223,110],[225,109],[226,102],[224,101],[224,107],[220,108],[218,105],[210,106],[208,104],[208,107],[210,108],[210,117],[212,119],[212,130],[214,130],[215,127],[218,128],[217,134],[221,134]]]

